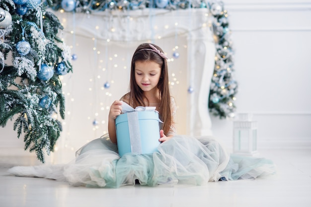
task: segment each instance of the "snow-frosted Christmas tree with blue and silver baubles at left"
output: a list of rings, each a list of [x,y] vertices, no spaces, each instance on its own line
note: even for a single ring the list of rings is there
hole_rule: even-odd
[[[0,126],[14,119],[24,136],[24,150],[45,162],[65,118],[60,75],[72,71],[69,47],[58,37],[63,30],[50,11],[52,0],[0,1]]]

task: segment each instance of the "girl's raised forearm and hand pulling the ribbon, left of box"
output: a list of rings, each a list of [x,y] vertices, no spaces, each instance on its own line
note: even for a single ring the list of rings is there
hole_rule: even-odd
[[[108,116],[108,133],[109,138],[112,143],[117,143],[117,134],[116,134],[116,118],[121,114],[122,102],[114,101],[110,106],[109,116]]]

